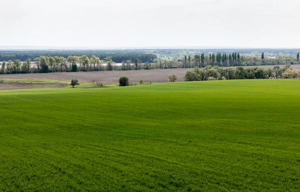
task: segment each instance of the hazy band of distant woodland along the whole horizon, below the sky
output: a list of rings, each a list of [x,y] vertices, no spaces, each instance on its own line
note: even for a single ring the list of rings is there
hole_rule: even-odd
[[[0,61],[2,60],[14,60],[19,59],[24,61],[26,59],[33,60],[39,56],[62,56],[67,58],[69,55],[87,55],[89,58],[94,55],[100,59],[104,59],[108,56],[111,57],[112,61],[120,63],[123,60],[131,60],[134,62],[135,59],[141,62],[154,62],[157,57],[170,58],[174,61],[181,59],[184,55],[196,55],[196,54],[212,54],[212,53],[226,53],[239,52],[245,56],[256,55],[259,56],[262,52],[265,56],[276,56],[276,55],[296,55],[300,52],[300,48],[203,48],[203,49],[107,49],[107,50],[81,50],[81,49],[18,49],[18,50],[5,50],[0,49]]]

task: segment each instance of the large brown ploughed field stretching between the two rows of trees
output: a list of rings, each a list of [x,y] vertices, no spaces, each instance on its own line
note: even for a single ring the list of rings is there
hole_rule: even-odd
[[[284,65],[281,65],[282,68]],[[254,66],[244,66],[245,68]],[[259,65],[261,68],[273,68],[274,65]],[[294,69],[300,69],[300,64],[291,65]],[[186,70],[192,68],[174,68],[174,69],[151,69],[151,70],[113,70],[113,71],[90,71],[90,72],[53,72],[53,73],[27,73],[27,74],[0,74],[1,78],[10,79],[41,79],[41,80],[59,80],[70,81],[75,78],[79,82],[102,82],[107,84],[118,83],[120,76],[127,76],[130,82],[167,82],[168,75],[177,74],[177,81],[183,81]]]

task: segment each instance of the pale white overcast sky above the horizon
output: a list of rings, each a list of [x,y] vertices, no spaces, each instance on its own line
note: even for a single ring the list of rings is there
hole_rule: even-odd
[[[300,0],[0,0],[0,45],[300,47]]]

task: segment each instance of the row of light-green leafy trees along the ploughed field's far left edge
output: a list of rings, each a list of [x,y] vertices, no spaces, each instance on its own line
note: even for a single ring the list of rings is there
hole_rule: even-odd
[[[40,56],[33,59],[26,59],[21,62],[19,59],[2,61],[0,73],[28,73],[28,72],[57,72],[57,71],[98,71],[98,70],[132,70],[141,69],[141,60],[135,59],[132,66],[131,60],[122,61],[121,66],[116,66],[111,57],[101,60],[99,57],[92,55],[71,56]]]

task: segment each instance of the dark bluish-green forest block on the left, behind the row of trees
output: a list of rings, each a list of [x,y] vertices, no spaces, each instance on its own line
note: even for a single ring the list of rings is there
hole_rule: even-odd
[[[153,62],[157,58],[155,54],[148,54],[142,50],[0,50],[0,60],[15,60],[19,59],[24,61],[26,59],[33,60],[39,56],[59,56],[67,58],[69,55],[86,55],[89,58],[92,55],[104,59],[110,56],[111,60],[116,63],[120,63],[123,60],[135,59],[141,62]]]

